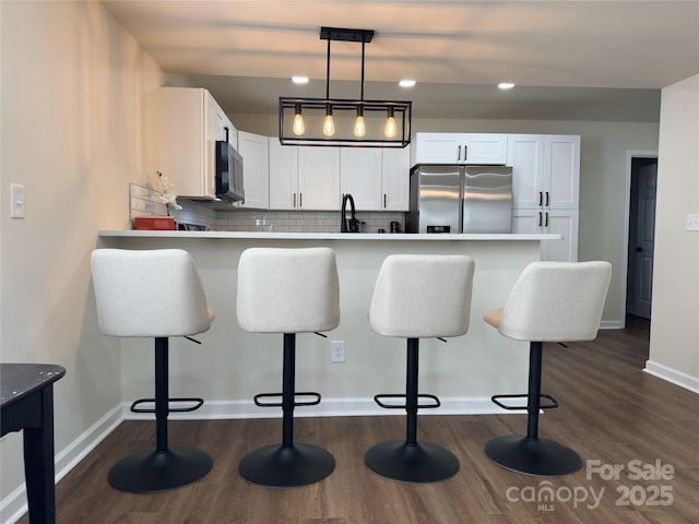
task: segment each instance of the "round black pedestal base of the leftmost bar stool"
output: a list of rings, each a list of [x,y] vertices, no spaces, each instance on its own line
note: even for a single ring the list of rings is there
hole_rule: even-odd
[[[141,451],[119,461],[109,471],[109,484],[134,493],[179,488],[206,475],[211,456],[196,448],[169,448],[165,452]]]

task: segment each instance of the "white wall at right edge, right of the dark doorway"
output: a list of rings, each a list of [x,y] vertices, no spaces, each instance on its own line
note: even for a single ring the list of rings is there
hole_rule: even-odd
[[[663,90],[647,371],[699,392],[699,75]]]

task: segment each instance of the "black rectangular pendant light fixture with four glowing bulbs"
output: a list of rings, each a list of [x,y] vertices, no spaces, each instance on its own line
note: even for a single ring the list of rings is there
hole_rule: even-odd
[[[411,142],[411,102],[364,99],[365,46],[370,29],[321,27],[328,40],[325,98],[280,97],[282,145],[405,147]],[[330,98],[330,46],[333,40],[362,44],[359,99]]]

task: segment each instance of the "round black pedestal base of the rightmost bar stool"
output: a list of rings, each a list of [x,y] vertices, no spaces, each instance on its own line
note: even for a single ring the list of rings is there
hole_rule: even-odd
[[[537,477],[559,477],[582,467],[580,456],[570,448],[518,434],[490,440],[485,444],[485,453],[506,469]]]

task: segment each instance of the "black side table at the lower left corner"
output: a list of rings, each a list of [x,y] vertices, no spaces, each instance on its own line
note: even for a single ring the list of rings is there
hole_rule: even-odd
[[[56,522],[54,382],[66,369],[48,364],[0,364],[0,428],[24,429],[24,474],[29,522]]]

